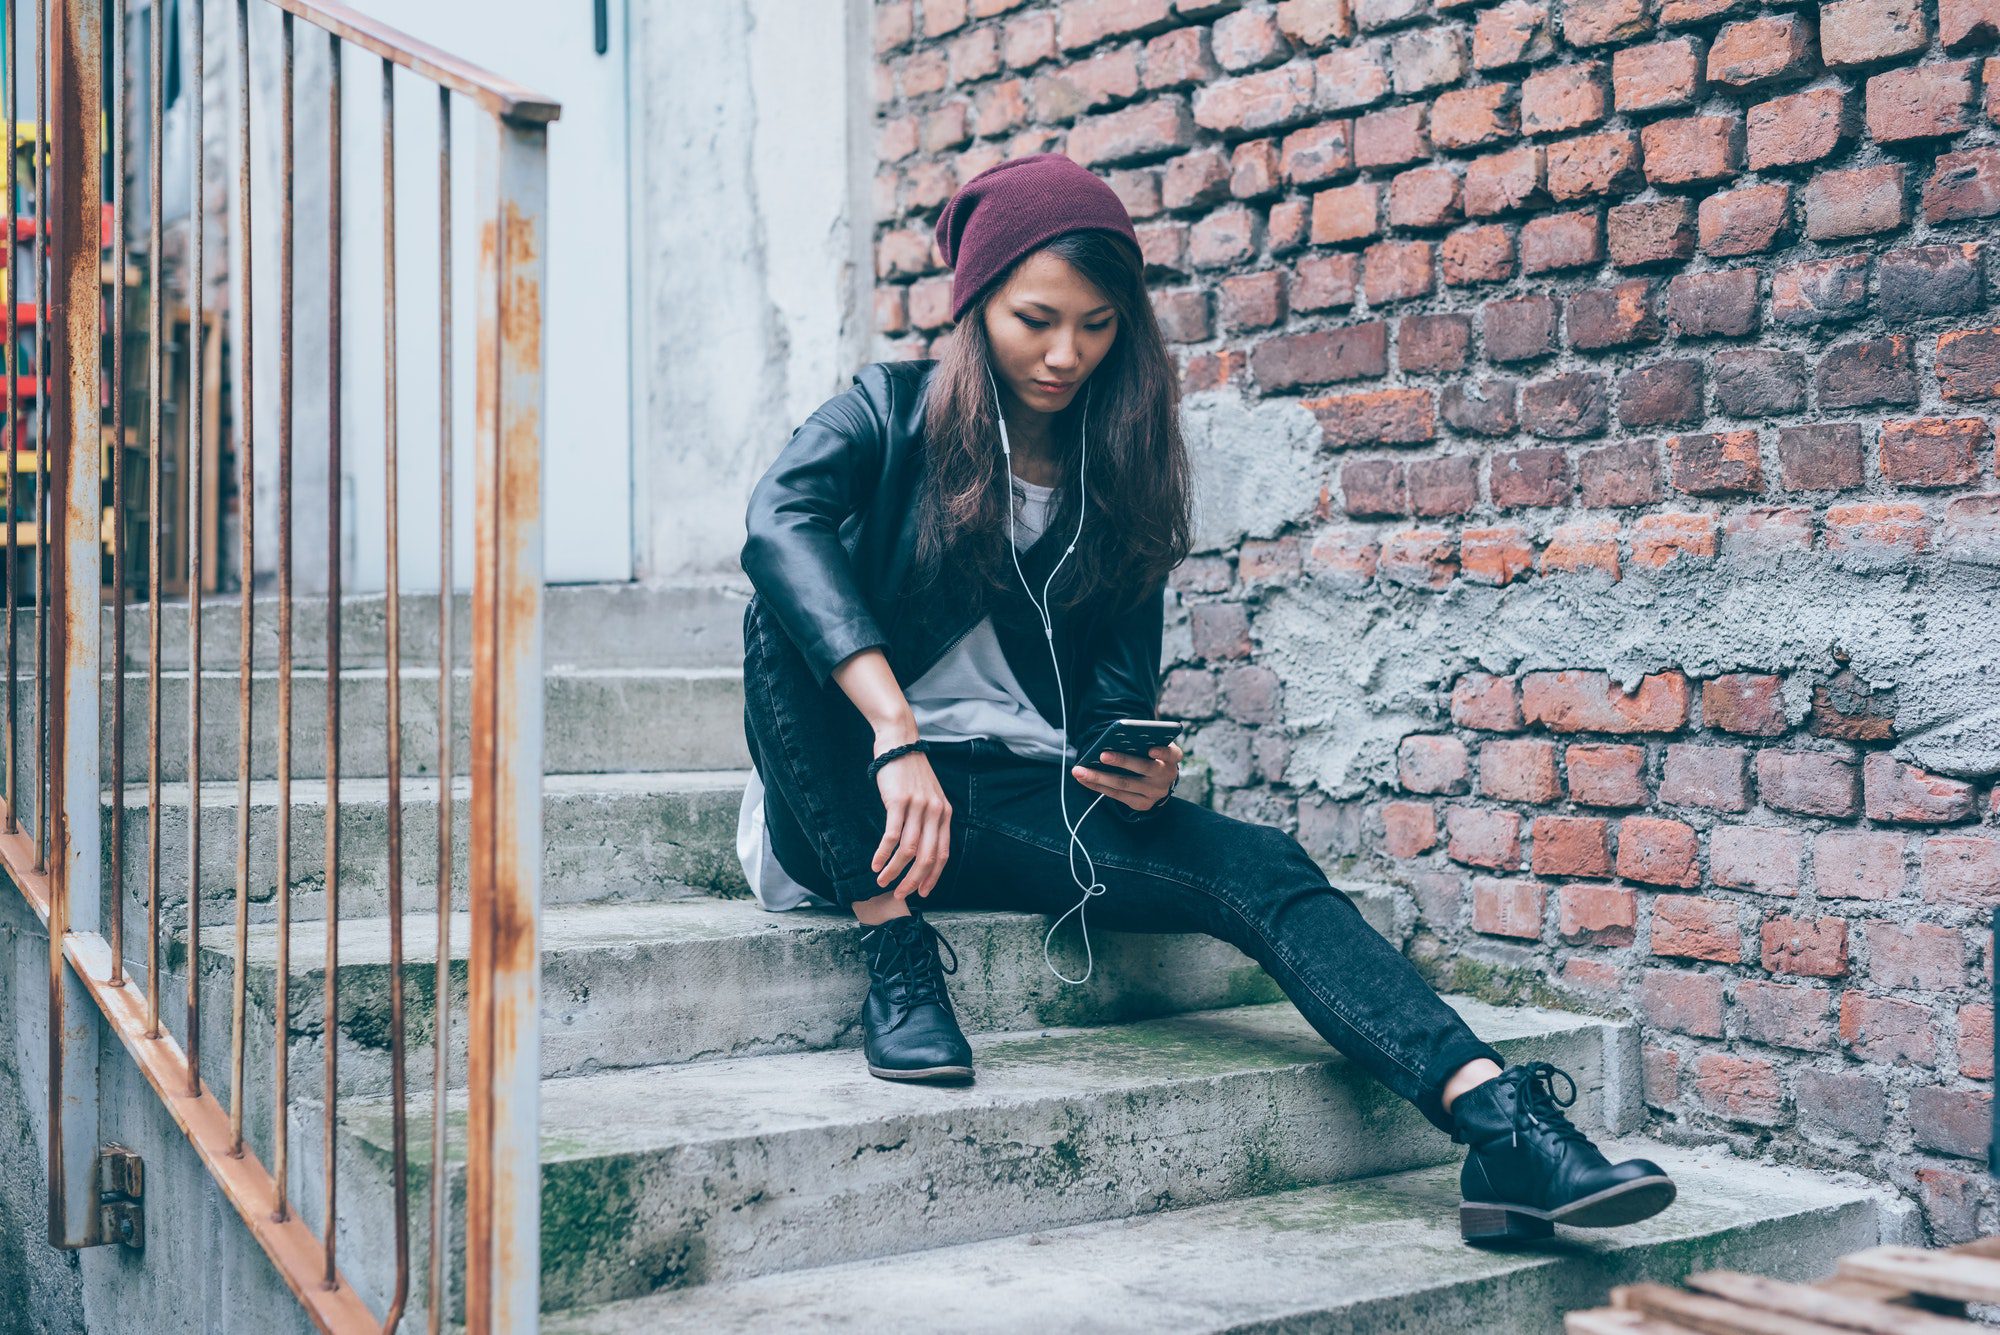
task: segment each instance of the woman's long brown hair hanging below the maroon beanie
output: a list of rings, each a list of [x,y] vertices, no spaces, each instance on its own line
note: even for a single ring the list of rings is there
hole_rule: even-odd
[[[1078,504],[1088,502],[1090,512],[1048,602],[1052,612],[1080,604],[1124,610],[1186,560],[1194,546],[1180,378],[1146,296],[1142,260],[1128,240],[1080,230],[1064,232],[1030,254],[1044,250],[1076,268],[1118,312],[1110,352],[1050,424],[1056,510],[1048,530],[1074,534]],[[986,338],[986,306],[1026,258],[986,288],[938,348],[924,398],[928,468],[918,494],[916,592],[946,566],[970,572],[990,594],[1010,594],[1020,586],[1008,550],[1012,484],[988,380],[992,344]],[[1078,486],[1086,412],[1090,452]]]

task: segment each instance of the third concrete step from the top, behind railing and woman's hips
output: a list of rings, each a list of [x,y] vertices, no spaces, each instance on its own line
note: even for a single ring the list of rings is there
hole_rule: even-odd
[[[736,813],[748,769],[552,773],[542,781],[542,903],[652,901],[686,893],[748,895],[736,859]],[[472,779],[452,781],[454,903],[466,899]],[[106,793],[108,795],[108,793]],[[104,811],[110,831],[110,803]],[[250,915],[270,921],[278,893],[278,781],[250,785]],[[128,921],[144,913],[148,881],[146,785],[124,793]],[[110,839],[104,843],[110,883]],[[326,781],[292,781],[292,915],[324,917]],[[160,785],[160,901],[186,911],[188,787]],[[402,781],[402,885],[410,907],[436,907],[438,781]],[[202,913],[234,913],[236,783],[202,783]],[[388,779],[340,779],[340,913],[388,911]]]

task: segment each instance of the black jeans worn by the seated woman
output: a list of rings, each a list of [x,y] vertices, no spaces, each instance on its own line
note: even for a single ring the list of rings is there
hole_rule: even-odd
[[[868,779],[874,733],[758,602],[744,612],[744,731],[764,779],[766,837],[784,869],[850,905],[892,889],[870,869],[888,809]],[[1154,821],[1126,825],[1054,759],[1024,759],[992,737],[932,741],[930,767],[952,803],[952,851],[928,909],[1062,913],[1082,889],[1070,877],[1068,817],[1104,883],[1086,909],[1106,931],[1206,931],[1278,981],[1320,1035],[1432,1125],[1452,1129],[1440,1095],[1478,1057],[1506,1065],[1430,983],[1368,925],[1312,855],[1274,825],[1240,821],[1168,797]],[[1104,797],[1104,801],[1116,801]],[[904,869],[908,875],[908,869]],[[898,877],[900,879],[900,877]]]

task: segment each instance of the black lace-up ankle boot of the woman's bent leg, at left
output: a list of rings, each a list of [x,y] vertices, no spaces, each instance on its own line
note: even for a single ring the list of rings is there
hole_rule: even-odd
[[[938,945],[952,967],[938,963]],[[972,1047],[958,1029],[944,975],[958,973],[958,951],[916,913],[862,927],[868,999],[862,1001],[862,1047],[868,1073],[882,1079],[972,1079]]]

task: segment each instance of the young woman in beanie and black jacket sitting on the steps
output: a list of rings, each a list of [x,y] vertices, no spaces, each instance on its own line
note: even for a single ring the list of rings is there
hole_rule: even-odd
[[[868,1069],[972,1075],[958,959],[920,905],[1204,931],[1470,1145],[1470,1241],[1664,1209],[1668,1175],[1606,1161],[1558,1067],[1502,1069],[1292,835],[1174,797],[1178,743],[1082,763],[1158,703],[1166,576],[1192,542],[1176,370],[1124,204],[1068,158],[980,172],[936,240],[940,356],[876,362],[820,406],[752,490],[742,550],[738,853],[766,907],[860,919]]]

